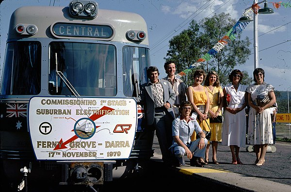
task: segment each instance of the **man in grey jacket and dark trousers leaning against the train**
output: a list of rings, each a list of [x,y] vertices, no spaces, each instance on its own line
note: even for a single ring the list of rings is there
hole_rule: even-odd
[[[162,160],[171,165],[172,122],[175,119],[173,104],[175,93],[166,80],[159,80],[159,69],[150,66],[146,70],[150,81],[141,86],[140,95],[135,97],[138,104],[144,105],[147,125],[153,125],[159,140]]]

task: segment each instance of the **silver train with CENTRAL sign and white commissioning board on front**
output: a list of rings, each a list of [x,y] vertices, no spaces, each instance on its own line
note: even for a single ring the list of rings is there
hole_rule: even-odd
[[[95,191],[138,173],[154,154],[154,130],[133,99],[149,66],[147,25],[136,13],[93,0],[16,9],[0,84],[6,191]]]

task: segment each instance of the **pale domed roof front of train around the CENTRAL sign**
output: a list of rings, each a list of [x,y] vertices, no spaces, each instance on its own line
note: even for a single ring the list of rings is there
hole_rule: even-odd
[[[69,13],[69,7],[25,6],[16,9],[12,14],[8,39],[19,38],[19,33],[16,32],[17,24],[33,24],[37,26],[38,32],[31,36],[26,36],[27,38],[56,38],[50,29],[56,22],[86,25],[110,24],[115,30],[114,36],[110,41],[132,43],[126,38],[126,32],[129,30],[144,31],[147,34],[145,19],[136,13],[98,9],[97,17],[84,19],[72,17]],[[140,44],[148,45],[147,35]]]

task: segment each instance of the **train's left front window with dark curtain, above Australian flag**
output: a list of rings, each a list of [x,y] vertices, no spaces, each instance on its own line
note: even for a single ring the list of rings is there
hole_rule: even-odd
[[[41,44],[36,41],[7,43],[1,95],[37,95],[41,87]]]

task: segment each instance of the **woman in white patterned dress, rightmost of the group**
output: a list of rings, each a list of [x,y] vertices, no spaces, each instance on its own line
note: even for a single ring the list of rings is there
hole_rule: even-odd
[[[274,86],[264,81],[265,72],[256,68],[253,72],[255,84],[248,86],[248,104],[250,105],[247,142],[255,147],[255,164],[265,163],[268,144],[273,144],[271,107],[276,102]]]

